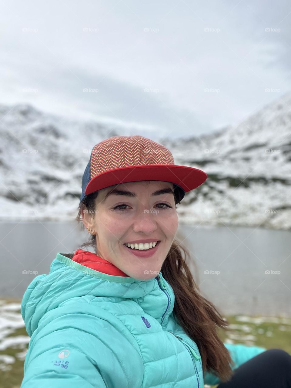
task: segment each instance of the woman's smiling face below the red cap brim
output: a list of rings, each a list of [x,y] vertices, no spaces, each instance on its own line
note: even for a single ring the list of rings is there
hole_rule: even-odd
[[[170,192],[157,193],[164,189]],[[100,257],[136,280],[151,279],[159,274],[178,229],[173,184],[143,181],[106,187],[95,199],[95,213],[82,217],[84,225],[96,232]],[[124,245],[145,239],[159,243],[142,251]]]

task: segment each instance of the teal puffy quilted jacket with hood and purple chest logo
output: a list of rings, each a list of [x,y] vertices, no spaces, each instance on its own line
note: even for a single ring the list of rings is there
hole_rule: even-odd
[[[194,341],[173,318],[162,273],[147,281],[90,269],[58,253],[21,303],[31,337],[21,388],[202,388]],[[233,368],[265,351],[225,343]]]

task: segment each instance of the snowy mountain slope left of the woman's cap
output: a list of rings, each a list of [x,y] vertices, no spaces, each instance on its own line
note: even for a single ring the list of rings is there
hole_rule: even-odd
[[[72,219],[92,147],[119,128],[0,106],[1,218]]]

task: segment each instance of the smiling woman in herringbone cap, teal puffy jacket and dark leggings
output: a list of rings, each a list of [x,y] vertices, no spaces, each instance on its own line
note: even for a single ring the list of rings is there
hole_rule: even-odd
[[[281,365],[290,384],[288,353],[222,343],[217,327],[228,323],[199,294],[175,241],[177,203],[206,178],[142,136],[94,146],[77,217],[91,239],[57,253],[23,296],[31,340],[21,388],[291,386],[268,367]]]

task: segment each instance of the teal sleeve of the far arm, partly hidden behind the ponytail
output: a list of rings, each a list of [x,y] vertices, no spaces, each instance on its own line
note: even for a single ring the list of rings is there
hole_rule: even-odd
[[[265,352],[265,348],[262,348],[260,346],[248,346],[243,345],[240,343],[237,344],[229,344],[229,343],[223,343],[223,345],[229,350],[230,357],[234,361],[234,366],[232,366],[232,370],[239,367],[239,365],[243,364],[244,362],[252,359],[256,355]],[[219,384],[220,379],[215,376],[215,374],[212,374],[210,372],[205,372],[204,374],[204,384],[209,385],[215,385]]]

